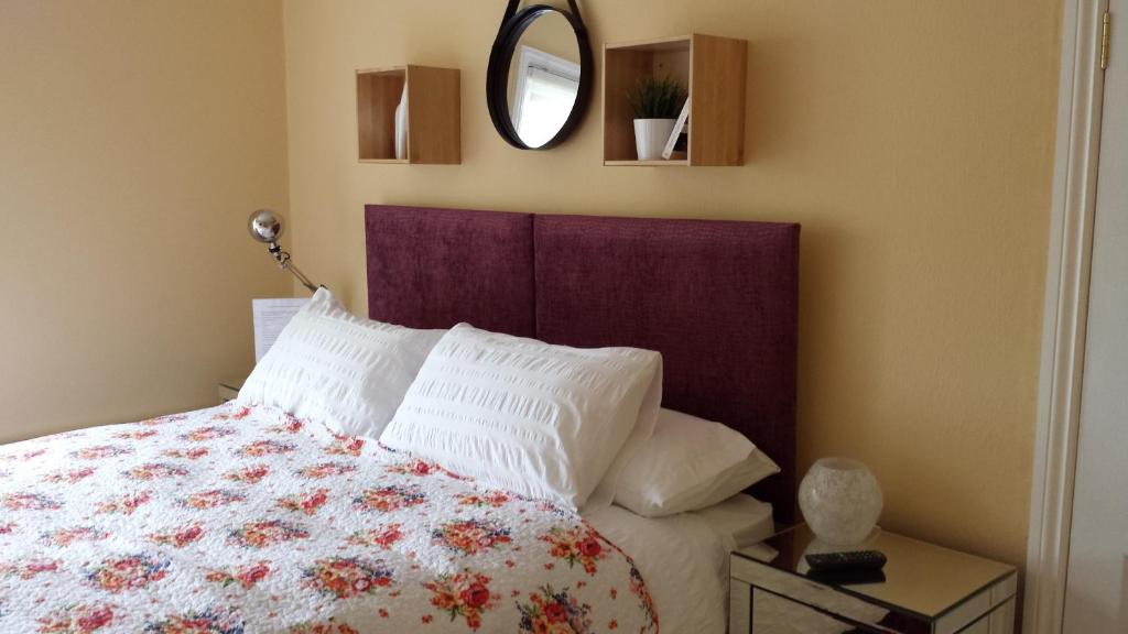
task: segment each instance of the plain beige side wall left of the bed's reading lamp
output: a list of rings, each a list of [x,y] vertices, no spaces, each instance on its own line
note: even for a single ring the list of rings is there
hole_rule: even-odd
[[[0,442],[212,405],[287,203],[277,0],[0,0]]]

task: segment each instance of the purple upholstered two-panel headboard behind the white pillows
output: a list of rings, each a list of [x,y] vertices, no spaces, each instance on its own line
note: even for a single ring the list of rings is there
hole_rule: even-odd
[[[663,405],[744,433],[795,508],[799,224],[368,205],[369,315],[662,353]]]

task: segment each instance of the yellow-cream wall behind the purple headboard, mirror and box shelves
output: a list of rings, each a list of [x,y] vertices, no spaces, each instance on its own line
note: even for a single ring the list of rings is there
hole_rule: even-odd
[[[287,0],[305,270],[365,310],[364,203],[801,222],[801,467],[860,458],[885,527],[1020,563],[1059,2],[581,5],[597,47],[747,38],[748,165],[602,167],[599,90],[567,143],[511,149],[484,96],[504,2]],[[461,166],[356,162],[353,70],[407,62],[462,70]]]

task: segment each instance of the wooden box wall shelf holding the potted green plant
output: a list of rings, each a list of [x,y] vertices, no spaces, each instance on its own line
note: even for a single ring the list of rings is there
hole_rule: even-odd
[[[693,34],[603,46],[603,165],[744,164],[748,41]],[[644,77],[670,76],[689,90],[688,156],[637,160],[628,93]]]

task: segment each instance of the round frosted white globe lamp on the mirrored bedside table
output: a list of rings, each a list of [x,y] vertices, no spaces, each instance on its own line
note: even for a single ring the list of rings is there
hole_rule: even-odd
[[[870,469],[849,458],[820,458],[799,485],[799,508],[828,544],[851,546],[870,536],[884,500]]]

